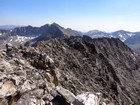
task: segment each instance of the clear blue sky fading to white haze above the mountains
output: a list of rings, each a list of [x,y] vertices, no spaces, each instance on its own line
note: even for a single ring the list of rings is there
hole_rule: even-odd
[[[140,31],[140,0],[0,0],[0,25]]]

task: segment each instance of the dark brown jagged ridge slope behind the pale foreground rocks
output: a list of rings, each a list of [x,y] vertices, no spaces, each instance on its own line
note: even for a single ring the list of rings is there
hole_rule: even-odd
[[[56,62],[60,84],[80,94],[101,92],[116,105],[130,105],[140,95],[140,57],[119,39],[71,37],[37,45]]]

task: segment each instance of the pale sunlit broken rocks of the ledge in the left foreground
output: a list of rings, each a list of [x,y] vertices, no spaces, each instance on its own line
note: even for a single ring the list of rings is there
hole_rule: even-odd
[[[6,45],[0,53],[0,105],[113,105],[101,93],[74,95],[59,84],[59,68],[33,47]]]

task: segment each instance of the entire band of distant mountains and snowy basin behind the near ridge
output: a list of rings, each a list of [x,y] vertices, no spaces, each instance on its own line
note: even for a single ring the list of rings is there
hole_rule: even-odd
[[[42,40],[48,40],[51,38],[63,38],[69,36],[83,36],[87,35],[91,38],[119,38],[130,48],[132,48],[137,53],[140,52],[140,44],[138,37],[140,32],[129,32],[124,30],[118,30],[115,32],[103,32],[99,30],[91,30],[88,32],[79,32],[72,30],[70,28],[64,28],[57,23],[45,24],[40,27],[33,26],[18,26],[13,29],[0,29],[0,50],[4,49],[6,43],[11,43],[12,45],[19,45],[29,42],[38,42]],[[4,37],[4,38],[3,38]],[[30,41],[29,41],[30,40]],[[29,41],[29,42],[28,42]]]

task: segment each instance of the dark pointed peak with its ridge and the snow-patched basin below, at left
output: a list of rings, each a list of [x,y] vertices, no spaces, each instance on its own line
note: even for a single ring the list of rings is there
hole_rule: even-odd
[[[0,29],[0,50],[5,48],[6,43],[16,46],[26,42],[35,43],[51,38],[63,38],[81,34],[81,32],[70,28],[65,29],[56,23],[45,24],[41,27],[33,27],[29,25],[25,27],[16,27],[11,30]]]

